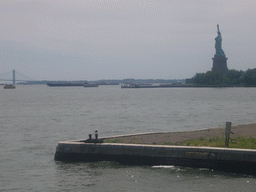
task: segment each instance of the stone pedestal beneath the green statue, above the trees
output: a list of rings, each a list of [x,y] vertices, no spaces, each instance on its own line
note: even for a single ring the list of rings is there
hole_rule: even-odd
[[[225,55],[214,55],[212,71],[218,71],[220,73],[225,74],[228,71],[227,60]]]

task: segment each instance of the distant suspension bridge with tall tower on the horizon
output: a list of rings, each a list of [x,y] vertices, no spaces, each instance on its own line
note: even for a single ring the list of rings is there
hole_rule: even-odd
[[[34,79],[31,79],[15,70],[8,71],[6,73],[0,74],[0,82],[10,82],[12,81],[12,84],[16,84],[17,81],[19,82],[27,82],[27,81],[35,81]]]

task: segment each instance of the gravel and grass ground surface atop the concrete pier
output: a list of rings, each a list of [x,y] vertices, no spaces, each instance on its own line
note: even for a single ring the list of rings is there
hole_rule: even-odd
[[[228,148],[256,149],[256,124],[232,126]],[[225,128],[138,134],[105,139],[104,143],[225,147]]]

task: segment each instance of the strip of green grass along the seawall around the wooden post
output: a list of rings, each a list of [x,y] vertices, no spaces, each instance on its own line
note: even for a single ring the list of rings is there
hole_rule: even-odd
[[[186,146],[225,147],[225,138],[202,138],[184,142]],[[256,138],[237,137],[229,141],[229,148],[256,149]]]

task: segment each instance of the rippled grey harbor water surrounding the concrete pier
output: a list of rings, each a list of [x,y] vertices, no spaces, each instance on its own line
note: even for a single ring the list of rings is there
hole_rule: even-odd
[[[255,88],[0,88],[0,191],[254,191],[256,177],[53,160],[59,141],[255,123]]]

